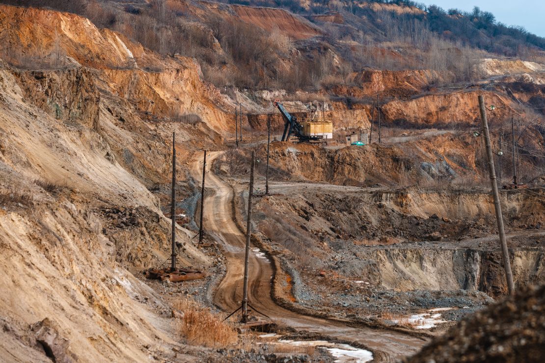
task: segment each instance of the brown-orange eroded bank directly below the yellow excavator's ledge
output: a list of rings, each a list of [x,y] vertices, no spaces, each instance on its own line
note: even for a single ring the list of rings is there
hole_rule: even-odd
[[[376,140],[377,130],[373,131]],[[480,145],[469,134],[443,134],[431,139],[384,146],[325,149],[307,144],[271,144],[271,165],[282,177],[348,186],[408,186],[478,179],[483,173]],[[265,148],[258,150],[264,157]]]

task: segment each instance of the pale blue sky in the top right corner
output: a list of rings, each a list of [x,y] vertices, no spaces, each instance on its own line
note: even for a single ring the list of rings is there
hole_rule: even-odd
[[[497,21],[507,25],[523,26],[530,33],[545,37],[545,0],[416,0],[426,5],[438,5],[448,10],[452,8],[471,11],[477,6],[490,11]]]

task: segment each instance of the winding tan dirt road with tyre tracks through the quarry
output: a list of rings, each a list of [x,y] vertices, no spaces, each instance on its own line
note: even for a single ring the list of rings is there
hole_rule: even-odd
[[[204,226],[210,236],[223,245],[227,260],[227,273],[220,282],[214,303],[227,312],[234,311],[242,300],[244,275],[245,236],[234,222],[233,189],[210,171],[210,166],[221,152],[210,152],[207,157],[206,197],[204,201]],[[191,175],[202,182],[202,162],[191,164]],[[390,359],[409,355],[426,343],[425,340],[395,331],[371,328],[353,328],[342,322],[301,315],[278,306],[271,298],[272,267],[265,257],[252,253],[250,257],[249,302],[255,309],[273,320],[297,330],[306,330],[344,341],[365,344],[375,352],[382,352]]]

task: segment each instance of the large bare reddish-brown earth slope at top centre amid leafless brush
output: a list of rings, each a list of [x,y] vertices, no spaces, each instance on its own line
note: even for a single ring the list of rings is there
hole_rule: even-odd
[[[307,39],[322,33],[307,20],[283,9],[252,8],[241,5],[233,5],[233,8],[244,22],[252,23],[269,32],[277,29],[281,34],[293,39]]]

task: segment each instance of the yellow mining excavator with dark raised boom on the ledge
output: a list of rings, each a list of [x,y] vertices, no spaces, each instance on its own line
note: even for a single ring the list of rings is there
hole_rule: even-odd
[[[284,108],[280,101],[274,100],[272,105],[280,110],[284,121],[286,121],[282,141],[289,141],[293,134],[300,143],[325,146],[328,144],[327,140],[333,138],[333,123],[331,121],[310,120],[299,122],[295,116]]]

